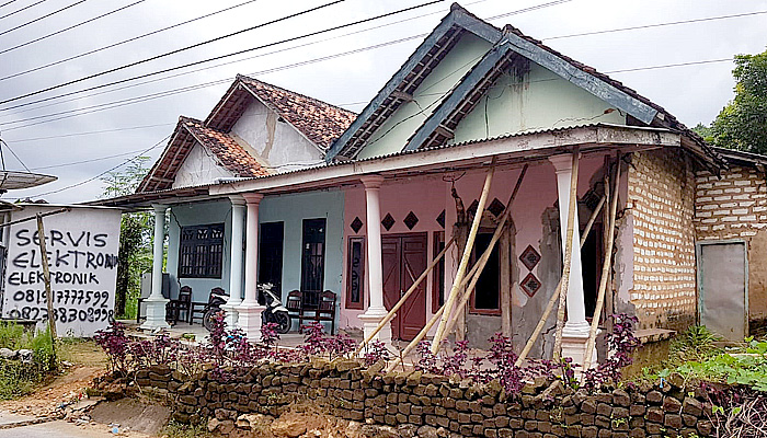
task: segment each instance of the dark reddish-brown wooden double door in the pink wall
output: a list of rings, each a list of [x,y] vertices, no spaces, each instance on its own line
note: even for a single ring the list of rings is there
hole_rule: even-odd
[[[427,265],[427,234],[390,234],[381,238],[384,267],[384,306],[391,309],[415,283]],[[411,341],[426,324],[426,281],[397,312],[391,321],[396,339]]]

